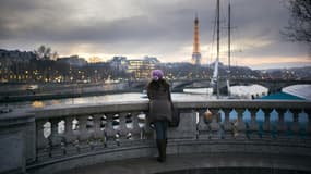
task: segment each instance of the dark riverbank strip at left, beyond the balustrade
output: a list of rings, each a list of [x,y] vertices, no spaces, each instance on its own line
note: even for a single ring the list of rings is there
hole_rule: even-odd
[[[29,89],[28,86],[36,86]],[[64,98],[79,98],[99,95],[141,92],[142,89],[129,87],[127,83],[118,84],[50,84],[50,85],[10,85],[2,86],[0,103],[36,101]]]

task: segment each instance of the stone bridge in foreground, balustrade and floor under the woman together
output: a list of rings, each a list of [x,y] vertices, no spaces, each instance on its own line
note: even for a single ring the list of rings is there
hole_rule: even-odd
[[[311,172],[308,101],[188,100],[174,105],[180,124],[168,130],[164,164],[154,159],[147,101],[1,114],[0,173]],[[211,120],[204,117],[207,109]]]

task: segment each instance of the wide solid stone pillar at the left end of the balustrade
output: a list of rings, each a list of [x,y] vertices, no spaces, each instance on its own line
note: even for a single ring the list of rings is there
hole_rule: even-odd
[[[25,173],[36,159],[35,115],[11,112],[0,117],[0,173]]]

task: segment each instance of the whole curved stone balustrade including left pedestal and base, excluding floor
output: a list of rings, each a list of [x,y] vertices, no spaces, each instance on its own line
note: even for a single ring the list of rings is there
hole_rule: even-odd
[[[206,100],[177,101],[175,107],[180,124],[168,130],[168,153],[260,149],[258,152],[311,158],[310,102]],[[147,101],[140,101],[5,114],[0,117],[0,173],[52,173],[155,156],[147,112]],[[11,154],[7,162],[2,160],[5,154]]]

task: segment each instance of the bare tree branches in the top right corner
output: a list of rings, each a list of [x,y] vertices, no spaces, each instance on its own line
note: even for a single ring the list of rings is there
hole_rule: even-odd
[[[288,26],[283,32],[292,41],[307,42],[311,50],[311,0],[288,0]]]

